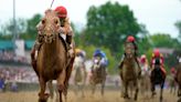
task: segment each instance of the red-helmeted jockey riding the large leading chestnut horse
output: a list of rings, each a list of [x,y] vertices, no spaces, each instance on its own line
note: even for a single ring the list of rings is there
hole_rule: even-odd
[[[57,13],[57,17],[60,18],[60,22],[61,22],[60,34],[61,37],[64,38],[65,42],[67,42],[68,55],[73,58],[74,50],[73,50],[72,40],[73,40],[74,33],[67,18],[67,10],[65,7],[60,6],[60,7],[56,7],[54,11]],[[42,44],[42,41],[39,39],[40,35],[42,34],[41,32],[43,29],[42,22],[39,22],[36,28],[38,28],[38,39],[35,40],[34,47],[31,51],[32,64],[35,63],[38,51],[40,50],[40,47]]]

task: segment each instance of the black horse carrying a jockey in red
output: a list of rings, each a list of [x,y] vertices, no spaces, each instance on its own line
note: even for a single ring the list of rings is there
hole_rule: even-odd
[[[159,84],[160,85],[160,102],[162,102],[162,92],[163,92],[163,86],[164,86],[166,74],[163,73],[163,71],[161,71],[160,59],[156,59],[156,63],[151,71],[150,80],[151,80],[152,96],[156,94],[155,85]]]

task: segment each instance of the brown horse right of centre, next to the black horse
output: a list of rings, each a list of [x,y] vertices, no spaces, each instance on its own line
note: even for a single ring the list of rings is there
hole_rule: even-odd
[[[136,62],[134,44],[130,42],[125,43],[125,58],[123,61],[123,68],[120,68],[120,79],[124,88],[124,98],[129,99],[128,89],[134,84],[135,86],[135,100],[138,96],[138,78],[139,78],[139,68]],[[130,89],[131,90],[131,89]]]

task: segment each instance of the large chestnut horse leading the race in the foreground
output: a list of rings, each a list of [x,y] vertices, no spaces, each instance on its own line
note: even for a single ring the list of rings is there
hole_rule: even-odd
[[[60,102],[63,101],[62,93],[64,93],[66,101],[74,58],[68,58],[66,42],[60,37],[58,28],[61,24],[55,11],[46,10],[41,23],[43,24],[42,45],[36,58],[36,65],[33,68],[40,84],[39,102],[47,101],[46,83],[53,80],[57,81]]]

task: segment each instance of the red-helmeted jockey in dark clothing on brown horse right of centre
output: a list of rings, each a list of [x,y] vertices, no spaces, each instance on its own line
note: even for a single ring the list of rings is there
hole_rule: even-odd
[[[131,42],[131,43],[134,44],[134,47],[135,47],[135,57],[136,57],[135,60],[136,60],[136,62],[137,62],[137,64],[138,64],[138,68],[140,69],[139,61],[138,61],[138,59],[137,59],[137,55],[138,55],[138,47],[137,47],[137,43],[136,43],[135,38],[134,38],[132,35],[129,35],[129,37],[127,38],[126,42]],[[118,65],[119,69],[123,68],[124,59],[125,59],[125,53],[124,53],[124,55],[121,57],[121,60],[120,60],[120,62],[119,62],[119,65]]]

